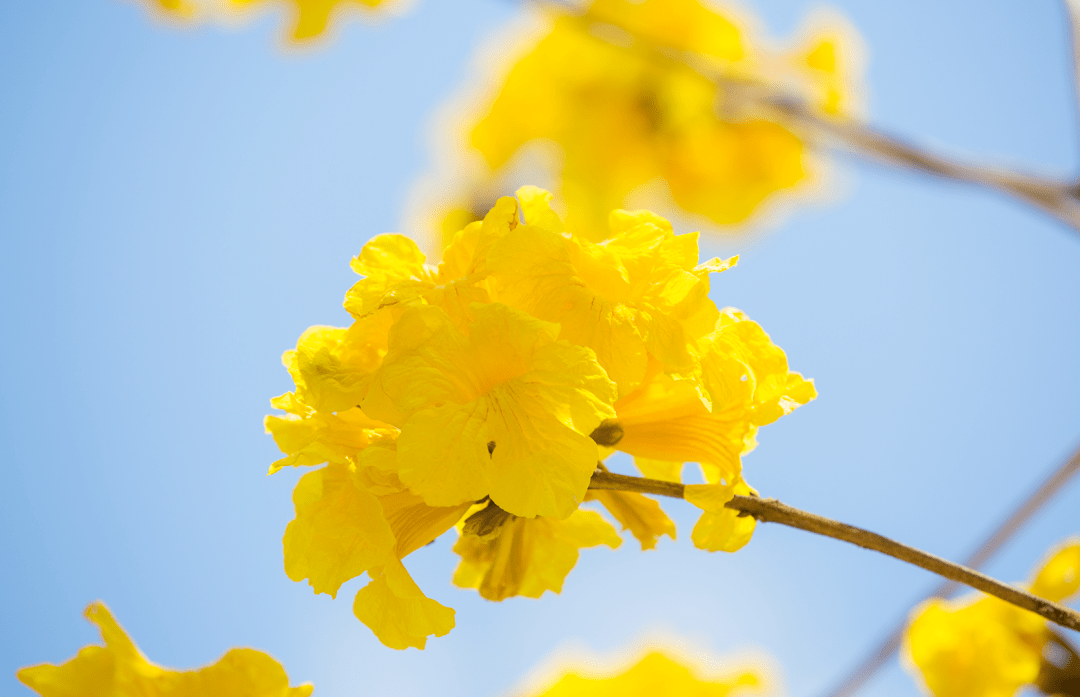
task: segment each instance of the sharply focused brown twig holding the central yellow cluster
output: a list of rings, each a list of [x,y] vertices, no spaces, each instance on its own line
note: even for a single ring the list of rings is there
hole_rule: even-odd
[[[660,496],[671,496],[684,498],[685,487],[674,482],[645,479],[640,477],[626,477],[625,474],[615,474],[612,472],[597,471],[593,473],[590,488],[606,488],[623,492],[637,492],[639,494],[657,494]],[[758,521],[767,523],[780,523],[789,527],[797,527],[807,531],[840,539],[852,545],[858,545],[865,549],[888,554],[901,561],[914,564],[933,572],[939,576],[955,580],[976,590],[999,598],[1007,603],[1012,603],[1017,607],[1031,611],[1055,625],[1061,625],[1074,631],[1080,631],[1080,613],[1057,603],[1032,595],[1014,586],[1002,584],[1001,581],[981,574],[974,569],[955,564],[933,554],[928,554],[921,550],[901,545],[900,542],[872,533],[869,531],[839,523],[828,518],[822,518],[813,513],[792,508],[774,498],[757,498],[755,496],[735,496],[726,504],[727,508],[742,511],[753,515]]]

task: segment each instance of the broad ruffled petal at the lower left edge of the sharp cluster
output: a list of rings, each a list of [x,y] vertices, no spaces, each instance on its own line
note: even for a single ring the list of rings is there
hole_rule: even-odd
[[[316,593],[337,595],[341,584],[392,555],[393,532],[379,499],[357,486],[346,467],[305,474],[293,492],[296,519],[285,528],[285,573],[308,579]]]

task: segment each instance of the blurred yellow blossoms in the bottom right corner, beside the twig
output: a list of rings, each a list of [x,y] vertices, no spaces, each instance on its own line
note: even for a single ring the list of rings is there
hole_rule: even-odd
[[[1053,602],[1080,592],[1080,538],[1051,553],[1029,590]],[[1047,662],[1048,644],[1072,651],[1042,617],[997,598],[972,595],[955,602],[933,599],[915,608],[904,654],[935,697],[1012,697],[1027,685],[1042,687],[1059,672]]]

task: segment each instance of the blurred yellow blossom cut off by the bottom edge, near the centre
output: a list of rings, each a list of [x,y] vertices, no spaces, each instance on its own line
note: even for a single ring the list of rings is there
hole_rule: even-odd
[[[727,697],[759,688],[764,682],[761,675],[751,669],[718,679],[702,678],[681,662],[652,652],[625,672],[611,678],[586,678],[568,672],[552,687],[531,697]]]

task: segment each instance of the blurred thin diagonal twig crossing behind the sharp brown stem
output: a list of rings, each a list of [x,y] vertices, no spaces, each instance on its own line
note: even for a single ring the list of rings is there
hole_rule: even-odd
[[[994,533],[990,534],[986,540],[978,546],[974,552],[971,553],[968,559],[964,560],[963,565],[970,566],[971,568],[978,568],[985,564],[990,557],[994,555],[998,549],[1004,545],[1013,534],[1021,528],[1024,523],[1027,522],[1029,518],[1042,506],[1053,498],[1061,488],[1068,482],[1074,474],[1080,471],[1080,446],[1072,452],[1072,455],[1062,463],[1053,474],[1047,478],[1039,488],[1028,496],[1024,502],[1022,502],[1016,510],[1012,512],[1009,518],[998,526]],[[957,584],[955,581],[945,581],[933,592],[929,593],[927,598],[947,598],[957,589]],[[874,651],[866,654],[866,657],[859,662],[855,668],[848,673],[848,676],[843,679],[832,692],[827,693],[826,697],[851,697],[855,692],[862,687],[867,680],[869,680],[874,673],[876,673],[900,648],[900,644],[904,639],[904,628],[907,626],[907,614],[905,613],[903,617],[899,618],[889,635],[881,642],[879,646],[874,648]]]

